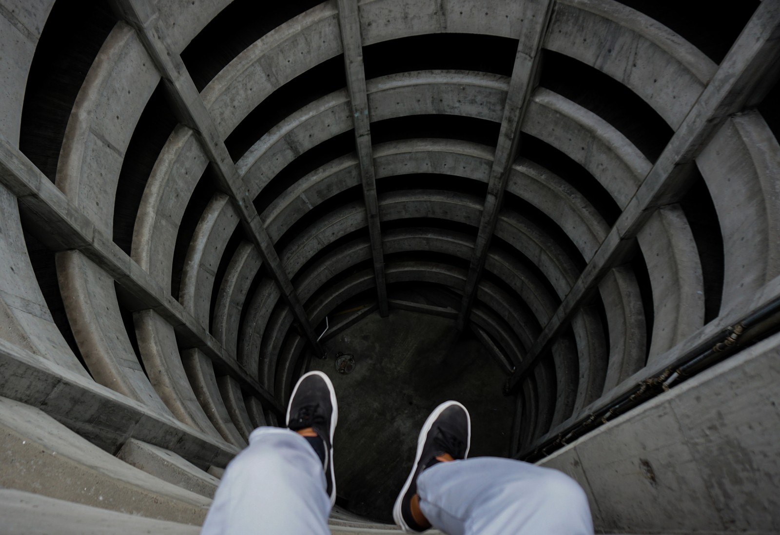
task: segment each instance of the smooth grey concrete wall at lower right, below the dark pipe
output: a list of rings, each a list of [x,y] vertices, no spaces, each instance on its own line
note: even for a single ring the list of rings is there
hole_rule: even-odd
[[[777,533],[778,354],[773,335],[539,464],[583,486],[597,530]]]

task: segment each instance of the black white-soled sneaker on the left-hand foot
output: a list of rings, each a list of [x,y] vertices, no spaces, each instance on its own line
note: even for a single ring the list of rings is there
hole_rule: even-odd
[[[331,506],[336,501],[336,482],[333,476],[333,432],[339,420],[339,406],[336,392],[327,375],[321,371],[310,371],[298,380],[287,406],[287,427],[296,431],[311,427],[324,442],[324,459],[327,492]],[[314,448],[315,452],[317,448]]]

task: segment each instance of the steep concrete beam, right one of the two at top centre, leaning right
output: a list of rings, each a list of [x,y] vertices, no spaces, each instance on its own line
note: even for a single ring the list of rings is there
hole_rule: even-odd
[[[521,31],[515,65],[512,68],[512,79],[509,80],[509,93],[506,97],[501,130],[498,133],[498,145],[495,148],[495,158],[488,179],[488,193],[485,196],[477,240],[470,260],[469,275],[463,289],[463,303],[456,320],[456,329],[460,332],[466,328],[474,299],[477,298],[477,284],[480,282],[485,260],[488,259],[488,249],[498,222],[498,211],[501,210],[506,182],[517,156],[520,126],[523,124],[523,116],[537,81],[541,45],[550,20],[552,4],[551,0],[534,0],[534,2],[523,2],[520,8]]]

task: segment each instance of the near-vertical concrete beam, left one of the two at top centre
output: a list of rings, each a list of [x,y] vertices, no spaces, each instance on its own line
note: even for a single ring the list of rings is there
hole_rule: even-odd
[[[388,315],[388,292],[385,284],[385,253],[379,225],[379,203],[374,176],[374,154],[371,149],[371,117],[368,115],[366,71],[363,69],[363,42],[360,37],[360,16],[357,0],[339,0],[339,27],[344,48],[346,88],[352,104],[355,124],[355,146],[363,179],[363,200],[366,204],[368,232],[371,236],[371,257],[374,260],[374,278],[381,317]]]

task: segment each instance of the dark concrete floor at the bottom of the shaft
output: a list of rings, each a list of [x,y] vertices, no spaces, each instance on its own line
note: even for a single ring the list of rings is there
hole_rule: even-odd
[[[392,523],[420,427],[449,399],[469,409],[470,457],[508,455],[514,399],[502,395],[505,375],[476,338],[456,338],[454,324],[405,310],[374,313],[330,340],[327,360],[310,361],[309,370],[331,377],[339,400],[333,459],[338,503],[350,512]],[[339,351],[353,354],[352,373],[336,371]]]

